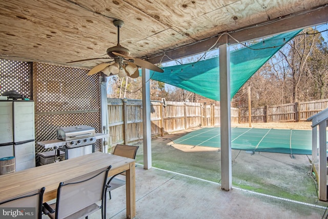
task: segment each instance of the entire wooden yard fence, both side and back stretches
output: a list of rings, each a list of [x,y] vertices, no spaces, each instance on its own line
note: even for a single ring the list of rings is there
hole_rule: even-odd
[[[109,146],[142,139],[142,101],[108,98]],[[252,108],[252,123],[298,122],[325,109],[328,99]],[[231,123],[248,123],[247,108],[231,108]],[[151,101],[152,136],[198,126],[219,126],[220,107],[206,103]]]

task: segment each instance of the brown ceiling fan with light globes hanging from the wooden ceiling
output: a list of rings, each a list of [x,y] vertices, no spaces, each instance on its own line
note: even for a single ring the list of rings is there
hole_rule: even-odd
[[[139,58],[129,57],[130,51],[119,44],[119,29],[123,27],[124,21],[115,19],[113,20],[113,24],[115,25],[115,27],[117,27],[117,45],[115,47],[108,48],[106,51],[109,58],[113,60],[97,64],[88,72],[88,75],[93,75],[102,71],[107,76],[118,75],[119,77],[129,76],[131,78],[137,78],[139,77],[138,67],[153,70],[155,72],[163,72],[161,68],[148,61]],[[70,61],[67,63],[88,61],[94,59],[105,58],[88,58],[77,61]]]

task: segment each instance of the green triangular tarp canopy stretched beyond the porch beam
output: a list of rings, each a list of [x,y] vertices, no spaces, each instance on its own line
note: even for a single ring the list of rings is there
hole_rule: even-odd
[[[230,52],[231,98],[240,87],[301,30],[283,33],[259,43]],[[220,100],[219,58],[162,68],[163,73],[150,71],[151,79],[171,84],[203,97]]]

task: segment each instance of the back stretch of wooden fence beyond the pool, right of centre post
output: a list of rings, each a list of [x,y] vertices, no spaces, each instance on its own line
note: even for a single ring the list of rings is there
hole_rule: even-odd
[[[327,108],[328,99],[264,106],[251,109],[252,123],[300,122]],[[239,109],[239,123],[249,122],[249,109]]]

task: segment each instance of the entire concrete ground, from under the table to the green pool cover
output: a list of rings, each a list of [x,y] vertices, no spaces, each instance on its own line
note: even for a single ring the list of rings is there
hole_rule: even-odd
[[[190,132],[152,139],[152,166],[136,163],[135,218],[325,218],[309,157],[232,151],[233,188],[220,187],[220,150],[174,144]],[[279,137],[277,137],[279,138]],[[310,156],[311,157],[311,156]],[[125,186],[112,191],[107,218],[126,218]],[[89,218],[100,218],[100,211]]]

